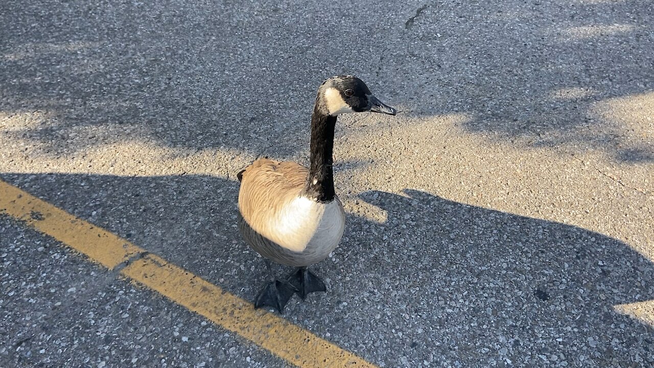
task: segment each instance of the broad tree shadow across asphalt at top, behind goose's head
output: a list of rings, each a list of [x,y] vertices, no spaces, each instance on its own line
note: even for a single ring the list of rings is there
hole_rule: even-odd
[[[46,113],[3,134],[48,155],[132,138],[292,155],[317,84],[350,72],[414,115],[468,113],[471,132],[654,158],[593,112],[654,88],[647,1],[3,7],[0,110]]]

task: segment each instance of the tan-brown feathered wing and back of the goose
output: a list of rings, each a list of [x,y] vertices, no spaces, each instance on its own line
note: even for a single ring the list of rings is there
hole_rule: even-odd
[[[243,172],[239,210],[248,223],[266,221],[304,188],[309,169],[296,162],[260,158]]]

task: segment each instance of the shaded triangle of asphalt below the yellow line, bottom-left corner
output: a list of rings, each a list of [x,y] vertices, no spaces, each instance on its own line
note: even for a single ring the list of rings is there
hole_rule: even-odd
[[[56,241],[0,217],[1,367],[283,367]]]

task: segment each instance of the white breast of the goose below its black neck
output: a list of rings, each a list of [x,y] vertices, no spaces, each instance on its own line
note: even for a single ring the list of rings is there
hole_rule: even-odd
[[[345,213],[338,199],[318,203],[299,196],[283,206],[268,225],[266,237],[286,249],[301,252],[311,248],[312,253],[329,249],[329,253],[343,236]]]

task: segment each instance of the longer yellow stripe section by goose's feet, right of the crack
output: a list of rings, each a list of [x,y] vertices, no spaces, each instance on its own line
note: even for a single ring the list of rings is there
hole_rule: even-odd
[[[299,367],[374,367],[156,255],[135,261],[121,273]]]

